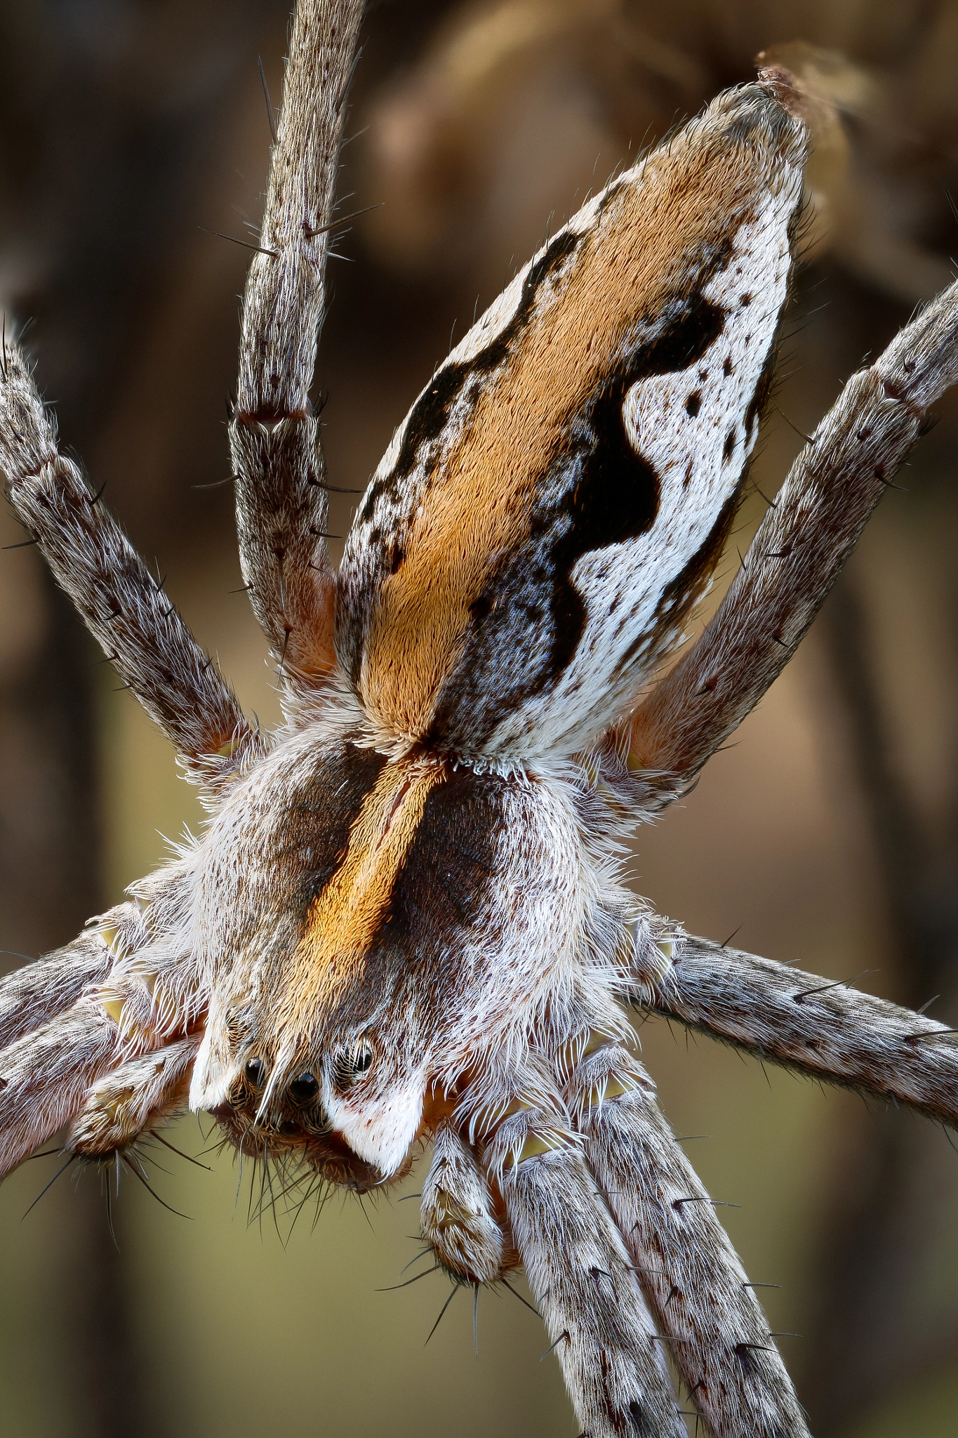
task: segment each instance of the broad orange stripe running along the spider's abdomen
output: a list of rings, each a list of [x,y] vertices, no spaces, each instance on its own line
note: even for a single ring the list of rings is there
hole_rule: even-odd
[[[629,332],[694,285],[697,256],[731,239],[767,193],[774,147],[740,138],[704,125],[649,157],[641,177],[609,197],[557,269],[552,298],[487,375],[402,536],[402,564],[382,585],[366,637],[363,703],[394,732],[427,733],[467,643],[470,607],[501,555],[526,542],[563,431]]]

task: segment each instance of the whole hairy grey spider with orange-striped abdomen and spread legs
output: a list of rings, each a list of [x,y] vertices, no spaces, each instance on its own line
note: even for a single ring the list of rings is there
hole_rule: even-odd
[[[135,1165],[187,1104],[292,1181],[432,1149],[458,1283],[526,1271],[583,1429],[806,1434],[662,1117],[626,1005],[958,1122],[944,1025],[691,938],[618,843],[794,651],[958,377],[958,286],[856,374],[702,637],[774,367],[807,135],[790,76],[720,95],[557,232],[452,351],[335,574],[309,403],[362,0],[300,0],[247,282],[240,555],[284,720],[250,725],[0,354],[9,499],[200,785],[208,824],[0,985],[0,1175],[66,1130]]]

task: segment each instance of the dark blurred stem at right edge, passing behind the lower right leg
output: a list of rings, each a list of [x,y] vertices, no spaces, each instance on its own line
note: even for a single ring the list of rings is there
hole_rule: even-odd
[[[951,1017],[958,1004],[958,814],[945,825],[948,840],[936,844],[895,759],[876,636],[855,569],[836,584],[820,624],[885,900],[892,997],[918,1009],[938,995],[936,1012]],[[947,792],[954,784],[955,775],[942,775]],[[859,1127],[863,1172],[855,1185],[836,1175],[811,1284],[814,1342],[804,1392],[822,1438],[852,1424],[878,1393],[890,1396],[931,1375],[958,1349],[954,1316],[922,1313],[919,1303],[929,1240],[954,1211],[954,1163],[918,1125],[862,1113]]]

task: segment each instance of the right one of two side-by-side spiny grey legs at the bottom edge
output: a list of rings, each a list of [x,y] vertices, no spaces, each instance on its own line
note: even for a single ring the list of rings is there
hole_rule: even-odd
[[[712,1438],[807,1438],[745,1273],[641,1064],[587,1055],[569,1102],[672,1360]]]

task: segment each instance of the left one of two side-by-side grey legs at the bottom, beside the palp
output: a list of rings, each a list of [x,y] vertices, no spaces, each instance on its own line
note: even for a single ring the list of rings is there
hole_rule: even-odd
[[[655,1324],[579,1140],[526,1110],[501,1122],[485,1162],[589,1438],[685,1438]]]

